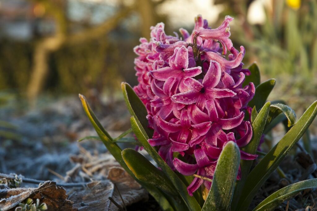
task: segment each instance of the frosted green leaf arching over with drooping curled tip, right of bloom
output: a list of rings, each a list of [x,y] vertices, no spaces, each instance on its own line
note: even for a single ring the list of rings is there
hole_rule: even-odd
[[[288,120],[288,127],[292,126],[296,122],[296,114],[293,109],[291,109],[288,105],[284,105],[281,103],[271,104],[270,112],[268,113],[268,120],[266,125],[268,126],[272,120],[278,116],[279,114],[284,113]]]

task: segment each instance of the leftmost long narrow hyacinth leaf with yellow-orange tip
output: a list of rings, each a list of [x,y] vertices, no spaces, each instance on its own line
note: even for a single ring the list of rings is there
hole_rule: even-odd
[[[84,108],[84,111],[94,126],[94,129],[96,130],[97,134],[99,135],[101,141],[104,143],[104,145],[107,147],[108,151],[113,155],[113,157],[120,163],[122,168],[126,170],[128,174],[130,174],[133,178],[135,178],[143,187],[145,187],[149,193],[158,201],[159,205],[164,210],[168,211],[174,211],[173,208],[171,208],[170,202],[171,200],[167,200],[168,197],[164,197],[164,195],[161,194],[161,191],[156,188],[155,186],[139,181],[133,173],[130,171],[130,169],[126,166],[126,163],[122,159],[121,156],[121,148],[113,142],[112,137],[107,133],[107,131],[102,127],[100,124],[98,118],[94,115],[94,112],[91,110],[86,98],[83,95],[79,95],[79,98],[81,99],[82,106]]]

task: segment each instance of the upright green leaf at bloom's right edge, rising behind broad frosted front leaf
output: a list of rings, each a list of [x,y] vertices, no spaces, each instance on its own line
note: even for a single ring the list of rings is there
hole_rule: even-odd
[[[243,151],[250,154],[256,154],[256,150],[259,146],[260,139],[262,137],[264,125],[268,117],[270,104],[271,104],[270,102],[265,103],[263,108],[260,110],[259,114],[256,116],[255,120],[253,121],[252,123],[253,137],[251,141],[249,142],[249,144],[242,148]],[[256,112],[255,108],[252,110],[252,113],[254,111]],[[235,194],[234,194],[234,198],[233,198],[232,206],[231,206],[232,210],[235,210],[236,205],[240,199],[242,189],[244,185],[246,184],[245,182],[250,172],[252,163],[253,161],[247,161],[247,160],[241,161],[241,179],[240,181],[237,181],[237,184],[236,184]]]

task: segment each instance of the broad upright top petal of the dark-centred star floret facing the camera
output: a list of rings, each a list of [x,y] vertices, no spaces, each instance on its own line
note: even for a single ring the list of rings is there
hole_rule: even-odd
[[[203,85],[204,87],[214,88],[220,81],[221,77],[221,68],[219,63],[217,62],[210,62],[209,69],[204,76]]]

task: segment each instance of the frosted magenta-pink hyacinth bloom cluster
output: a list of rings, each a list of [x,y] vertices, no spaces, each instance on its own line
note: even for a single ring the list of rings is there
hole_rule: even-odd
[[[141,38],[134,48],[135,92],[145,104],[149,127],[154,135],[148,142],[175,171],[212,179],[223,146],[234,141],[247,145],[252,128],[245,114],[253,98],[253,83],[243,87],[243,46],[235,49],[230,40],[227,16],[211,29],[201,16],[190,34],[180,29],[182,38],[168,36],[164,24],[151,27],[151,40]],[[240,150],[241,159],[257,156]],[[240,171],[239,171],[240,172]],[[238,173],[238,178],[241,174]],[[195,177],[187,188],[192,195],[202,184],[211,182]]]

